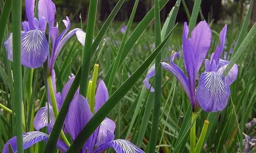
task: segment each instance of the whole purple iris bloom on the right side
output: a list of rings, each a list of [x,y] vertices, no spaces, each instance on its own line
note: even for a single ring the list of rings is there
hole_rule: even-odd
[[[211,44],[211,29],[206,21],[198,23],[193,29],[190,38],[187,38],[189,33],[187,23],[184,24],[182,51],[188,77],[173,63],[175,56],[178,56],[177,53],[172,54],[170,57],[170,65],[166,62],[161,62],[162,67],[173,73],[185,90],[193,111],[198,110],[199,104],[205,111],[211,112],[222,110],[226,106],[230,95],[228,85],[231,85],[235,80],[238,68],[237,65],[234,65],[225,78],[221,76],[229,63],[229,61],[219,59],[225,44],[226,26],[223,29],[220,33],[221,45],[216,47],[216,53],[212,55],[212,60],[206,60],[206,72],[202,73],[200,77],[197,94],[196,80],[198,72]],[[209,64],[212,65],[211,68]],[[146,88],[150,88],[149,78],[154,75],[155,65],[149,69],[144,79]],[[154,92],[154,88],[151,87],[150,90]]]

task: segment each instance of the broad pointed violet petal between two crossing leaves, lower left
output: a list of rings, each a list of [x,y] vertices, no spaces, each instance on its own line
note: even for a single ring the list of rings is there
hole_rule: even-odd
[[[91,117],[92,112],[90,111],[88,101],[81,94],[77,94],[69,104],[66,122],[68,132],[73,140],[91,119]]]

